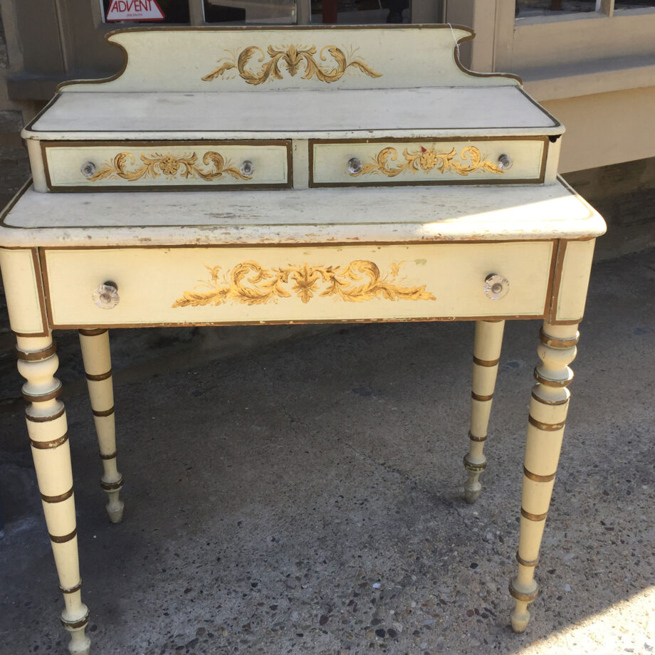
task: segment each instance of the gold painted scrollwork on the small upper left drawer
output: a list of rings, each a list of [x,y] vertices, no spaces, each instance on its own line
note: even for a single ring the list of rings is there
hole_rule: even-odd
[[[182,157],[175,157],[174,154],[142,154],[140,157],[143,162],[142,166],[133,169],[135,166],[135,157],[131,152],[119,152],[113,159],[110,159],[105,165],[90,177],[91,182],[97,182],[99,179],[126,179],[128,182],[135,182],[137,179],[147,177],[159,177],[164,175],[168,179],[174,179],[178,175],[184,178],[204,179],[210,182],[212,179],[218,179],[223,174],[231,175],[235,179],[251,179],[243,175],[241,171],[231,162],[226,161],[218,152],[208,151],[202,157],[202,163],[206,166],[211,164],[212,168],[203,170],[196,164],[198,156],[195,152],[184,154]]]

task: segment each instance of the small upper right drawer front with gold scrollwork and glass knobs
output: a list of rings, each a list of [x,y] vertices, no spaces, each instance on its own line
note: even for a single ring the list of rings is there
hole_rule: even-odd
[[[310,187],[542,183],[547,137],[473,140],[313,140]]]

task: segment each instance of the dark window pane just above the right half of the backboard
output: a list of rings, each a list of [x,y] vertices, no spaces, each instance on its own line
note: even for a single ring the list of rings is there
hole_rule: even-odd
[[[409,0],[312,0],[313,23],[409,23]]]

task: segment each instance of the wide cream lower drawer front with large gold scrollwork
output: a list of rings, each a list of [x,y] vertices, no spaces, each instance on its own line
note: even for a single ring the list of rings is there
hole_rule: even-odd
[[[538,318],[553,241],[385,246],[46,249],[53,327]],[[507,279],[491,300],[485,280]],[[97,307],[93,290],[117,285]]]

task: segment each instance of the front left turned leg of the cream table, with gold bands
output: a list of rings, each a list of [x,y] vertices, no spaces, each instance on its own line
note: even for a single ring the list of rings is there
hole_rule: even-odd
[[[59,588],[66,607],[61,623],[70,632],[68,650],[72,655],[88,655],[90,640],[84,629],[89,611],[82,602],[78,538],[75,528],[73,471],[66,411],[57,396],[61,382],[54,374],[59,360],[52,337],[16,337],[19,373],[23,384],[27,430],[32,446],[43,513],[55,556]]]

